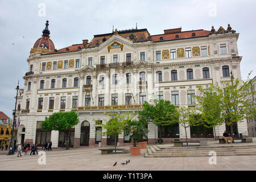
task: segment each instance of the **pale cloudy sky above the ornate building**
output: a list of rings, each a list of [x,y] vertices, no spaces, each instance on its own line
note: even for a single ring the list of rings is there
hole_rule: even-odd
[[[45,11],[44,11],[45,7]],[[6,1],[0,0],[0,111],[12,117],[15,87],[28,72],[27,58],[49,20],[51,39],[57,49],[89,41],[96,34],[147,28],[151,35],[168,28],[210,30],[223,26],[240,33],[238,51],[243,56],[242,77],[255,76],[256,1],[172,1],[172,0],[90,0],[90,1]],[[24,38],[23,38],[24,37]]]

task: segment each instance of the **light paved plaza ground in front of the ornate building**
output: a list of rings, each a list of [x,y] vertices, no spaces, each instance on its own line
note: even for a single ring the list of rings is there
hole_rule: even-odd
[[[255,139],[255,138],[254,138]],[[212,143],[214,144],[214,143]],[[215,143],[217,144],[217,143]],[[251,143],[254,144],[254,143]],[[129,147],[129,146],[125,146]],[[124,147],[122,147],[124,148]],[[251,156],[217,156],[217,164],[210,165],[209,157],[196,158],[144,158],[130,154],[101,155],[98,148],[76,148],[71,150],[46,151],[46,164],[38,164],[38,155],[24,155],[17,158],[0,155],[0,170],[256,170],[256,155]],[[130,159],[130,163],[122,165]],[[113,164],[117,162],[117,166]]]

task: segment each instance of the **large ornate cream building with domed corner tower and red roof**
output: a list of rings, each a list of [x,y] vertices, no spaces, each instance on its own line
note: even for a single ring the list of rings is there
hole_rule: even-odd
[[[112,136],[101,136],[96,120],[105,122],[104,112],[136,112],[152,97],[170,100],[177,108],[195,107],[192,95],[199,86],[207,89],[212,82],[230,80],[230,71],[241,79],[237,40],[239,34],[228,25],[214,30],[164,30],[150,35],[147,29],[131,29],[94,35],[56,49],[49,39],[48,21],[42,38],[36,40],[27,59],[24,89],[18,97],[18,143],[42,144],[52,141],[63,147],[65,134],[42,131],[41,123],[57,111],[75,110],[80,123],[73,127],[70,145],[113,145]],[[158,140],[158,129],[148,124],[148,143]],[[237,123],[234,132],[247,135],[246,122]],[[225,125],[216,127],[222,136]],[[165,126],[164,142],[185,138],[184,129]],[[188,129],[189,138],[213,138],[213,130],[204,126]],[[128,143],[124,134],[120,145]]]

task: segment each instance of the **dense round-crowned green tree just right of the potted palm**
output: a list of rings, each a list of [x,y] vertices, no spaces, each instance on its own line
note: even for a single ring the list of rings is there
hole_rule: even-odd
[[[139,121],[142,123],[152,122],[159,128],[159,143],[162,144],[163,126],[173,125],[179,118],[179,112],[170,101],[153,100],[151,104],[144,102],[143,110],[138,111]]]

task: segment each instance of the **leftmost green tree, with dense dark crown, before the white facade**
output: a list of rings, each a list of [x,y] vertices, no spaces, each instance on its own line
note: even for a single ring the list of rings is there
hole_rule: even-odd
[[[65,143],[66,150],[69,149],[69,133],[71,127],[77,125],[79,123],[79,119],[77,118],[76,111],[66,111],[66,112],[57,112],[53,113],[46,117],[46,119],[42,122],[42,130],[44,131],[63,131],[65,133]]]

